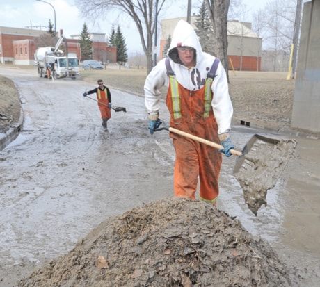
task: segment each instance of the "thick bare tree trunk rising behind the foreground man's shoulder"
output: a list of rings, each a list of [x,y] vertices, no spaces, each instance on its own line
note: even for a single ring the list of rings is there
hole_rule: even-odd
[[[216,38],[216,42],[214,42],[214,51],[216,51],[216,56],[221,60],[229,81],[229,60],[227,58],[227,13],[229,10],[230,0],[206,0],[206,3],[214,28],[214,38]]]

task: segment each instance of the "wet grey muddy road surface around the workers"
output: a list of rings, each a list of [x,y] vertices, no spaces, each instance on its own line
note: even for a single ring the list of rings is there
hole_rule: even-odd
[[[0,69],[15,81],[25,115],[17,140],[0,151],[1,287],[16,286],[33,268],[68,252],[107,217],[173,195],[171,140],[166,131],[148,133],[143,97],[111,88],[113,106],[127,113],[113,111],[104,132],[97,104],[82,97],[95,84],[14,72]],[[168,120],[164,105],[161,117]],[[254,132],[234,127],[237,149]],[[218,207],[269,241],[289,265],[293,286],[318,286],[320,145],[296,140],[294,156],[257,217],[232,176],[235,158],[223,158]]]

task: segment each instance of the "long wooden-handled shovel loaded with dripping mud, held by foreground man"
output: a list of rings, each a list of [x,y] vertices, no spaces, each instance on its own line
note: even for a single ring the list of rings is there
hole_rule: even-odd
[[[163,120],[160,120],[159,126],[154,131],[163,129],[216,149],[223,149],[223,146],[216,142],[167,126]],[[267,190],[273,188],[277,183],[294,153],[296,145],[296,140],[277,140],[255,134],[246,143],[242,151],[230,149],[231,154],[237,156],[233,169],[234,177],[240,183],[248,208],[256,216],[262,204],[266,206]]]

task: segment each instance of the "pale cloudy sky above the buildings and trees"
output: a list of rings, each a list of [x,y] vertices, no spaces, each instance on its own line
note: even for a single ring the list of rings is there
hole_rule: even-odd
[[[199,0],[193,0],[196,3]],[[232,1],[232,0],[231,0]],[[269,0],[242,0],[246,5],[248,14],[251,15],[253,11],[263,8]],[[47,3],[36,0],[1,0],[0,9],[0,26],[16,27],[16,28],[30,28],[33,26],[35,29],[47,30],[49,19],[54,24],[54,10],[56,10],[56,30],[63,29],[63,33],[68,37],[70,35],[78,35],[82,28],[83,23],[86,22],[90,32],[103,32],[108,36],[111,33],[111,27],[114,24],[118,26],[117,19],[111,19],[102,15],[102,21],[99,21],[99,26],[93,25],[90,19],[81,17],[74,0],[46,0],[51,3],[54,9]],[[201,2],[201,1],[200,1]],[[186,16],[186,9],[182,7],[187,3],[187,0],[175,1],[175,8],[166,10],[166,17],[184,17]],[[192,13],[198,13],[193,10]],[[108,19],[108,20],[105,20]],[[161,20],[161,19],[159,19]],[[247,21],[247,20],[246,20]],[[127,43],[128,54],[141,52],[141,40],[136,32],[136,26],[127,21],[120,23],[122,34]]]

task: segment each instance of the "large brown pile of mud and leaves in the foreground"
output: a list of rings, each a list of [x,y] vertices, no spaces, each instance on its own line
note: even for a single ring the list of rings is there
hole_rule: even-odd
[[[269,243],[218,208],[174,197],[109,218],[19,286],[291,286]]]

